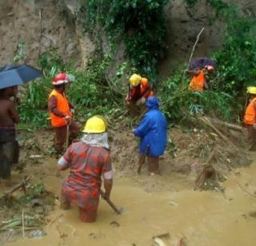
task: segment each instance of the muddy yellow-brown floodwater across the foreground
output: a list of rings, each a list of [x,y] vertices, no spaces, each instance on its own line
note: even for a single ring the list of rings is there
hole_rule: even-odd
[[[51,159],[26,171],[38,173],[46,189],[58,194],[68,172],[54,177],[55,167],[56,161]],[[45,227],[46,236],[8,245],[153,245],[152,237],[163,233],[170,233],[163,240],[165,245],[180,245],[182,238],[186,245],[255,245],[256,218],[250,215],[256,211],[255,173],[256,162],[235,169],[224,183],[224,193],[196,192],[186,177],[175,173],[170,177],[118,173],[111,199],[122,207],[122,215],[115,215],[101,200],[97,221],[84,224],[75,206],[68,211],[56,206]],[[20,178],[21,174],[14,173],[14,181]]]

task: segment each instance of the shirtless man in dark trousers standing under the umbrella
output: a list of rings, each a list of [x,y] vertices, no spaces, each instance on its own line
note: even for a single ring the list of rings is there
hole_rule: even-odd
[[[16,110],[18,86],[0,89],[0,178],[10,180],[10,168],[14,163],[15,124],[19,122]],[[11,101],[10,97],[15,100]]]

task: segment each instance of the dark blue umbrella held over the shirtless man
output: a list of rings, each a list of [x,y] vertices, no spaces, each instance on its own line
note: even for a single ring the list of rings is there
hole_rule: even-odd
[[[22,85],[41,76],[42,73],[30,65],[6,65],[0,69],[0,89]]]

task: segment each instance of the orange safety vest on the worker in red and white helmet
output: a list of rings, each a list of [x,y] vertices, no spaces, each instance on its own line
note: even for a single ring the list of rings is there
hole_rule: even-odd
[[[69,102],[67,101],[65,94],[59,93],[56,89],[53,89],[50,93],[49,99],[51,96],[54,96],[57,98],[57,109],[65,113],[66,115],[72,116],[72,113],[70,113],[70,106]],[[64,117],[58,117],[54,113],[50,112],[50,119],[51,119],[51,125],[53,127],[61,127],[66,125],[66,120]]]

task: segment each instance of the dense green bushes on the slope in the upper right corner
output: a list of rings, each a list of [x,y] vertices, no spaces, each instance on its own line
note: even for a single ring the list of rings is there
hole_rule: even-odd
[[[196,2],[199,0],[186,0],[188,6],[193,6]],[[256,85],[256,18],[254,15],[242,14],[236,6],[228,5],[222,0],[206,2],[216,10],[226,27],[222,48],[212,54],[218,67],[211,85],[214,92],[230,95],[236,101],[236,105],[234,102],[232,105],[238,114],[238,110],[242,112],[242,105],[246,101],[246,87]]]

